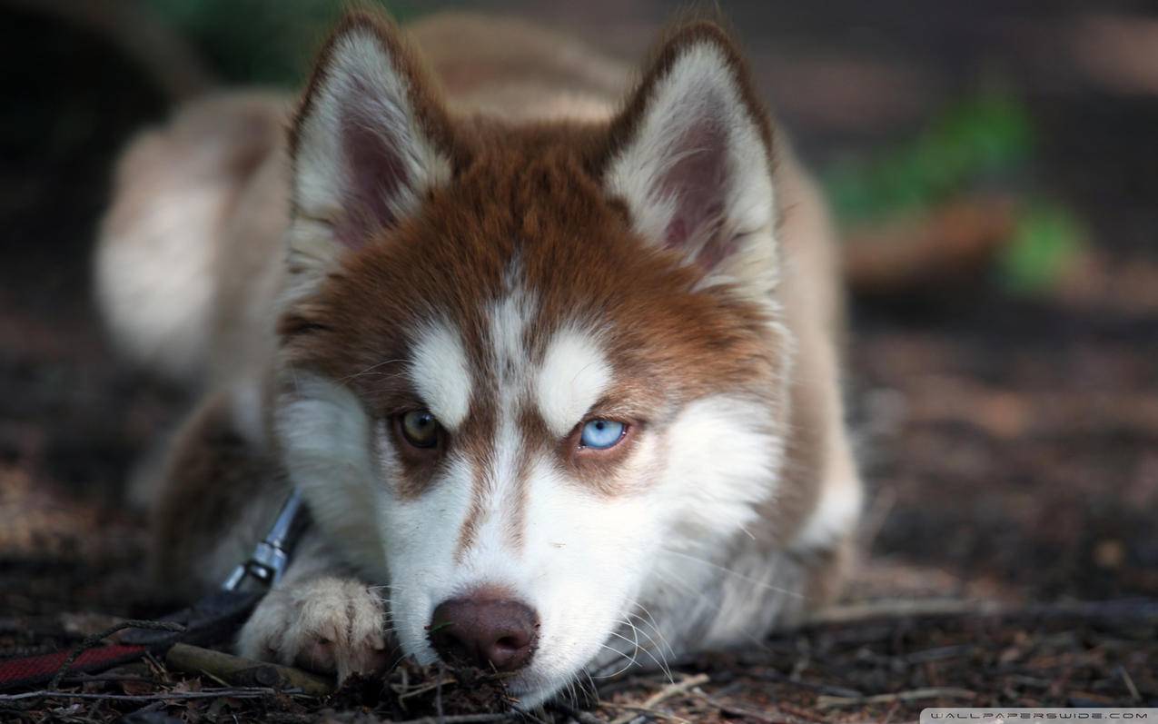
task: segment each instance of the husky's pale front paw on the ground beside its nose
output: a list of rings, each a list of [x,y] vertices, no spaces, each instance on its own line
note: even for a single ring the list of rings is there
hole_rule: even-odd
[[[366,584],[316,578],[270,591],[241,629],[241,656],[337,674],[389,664],[384,609]]]

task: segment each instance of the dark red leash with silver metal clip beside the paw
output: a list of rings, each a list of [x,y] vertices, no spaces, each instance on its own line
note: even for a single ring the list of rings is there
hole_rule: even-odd
[[[160,621],[125,621],[86,638],[68,651],[0,659],[0,689],[37,686],[45,681],[51,681],[54,688],[68,674],[95,673],[134,661],[146,653],[161,654],[178,642],[208,644],[228,637],[270,586],[281,580],[308,518],[301,493],[294,490],[252,555],[229,573],[219,591]],[[131,630],[120,636],[119,643],[93,648],[122,629]]]

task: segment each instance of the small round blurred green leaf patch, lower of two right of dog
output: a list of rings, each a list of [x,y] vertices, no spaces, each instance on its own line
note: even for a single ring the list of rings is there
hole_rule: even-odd
[[[1048,291],[1082,251],[1085,229],[1068,210],[1038,205],[1025,210],[1012,241],[997,259],[997,276],[1019,294]]]

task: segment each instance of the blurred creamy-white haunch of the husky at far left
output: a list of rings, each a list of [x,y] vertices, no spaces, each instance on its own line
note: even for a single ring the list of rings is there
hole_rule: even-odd
[[[119,351],[133,361],[190,387],[210,382],[223,357],[220,328],[235,321],[219,307],[228,286],[222,256],[239,226],[230,211],[252,200],[249,184],[262,173],[254,162],[264,159],[264,169],[276,154],[258,129],[284,127],[285,115],[279,97],[221,94],[177,110],[125,152],[101,222],[94,287]],[[267,212],[259,199],[245,218]]]

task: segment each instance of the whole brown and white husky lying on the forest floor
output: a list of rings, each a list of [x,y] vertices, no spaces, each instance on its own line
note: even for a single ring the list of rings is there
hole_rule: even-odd
[[[860,504],[835,251],[731,42],[673,34],[620,111],[566,38],[410,35],[346,21],[288,142],[284,98],[226,96],[122,163],[105,317],[204,394],[159,570],[215,585],[294,485],[315,524],[242,653],[345,675],[396,638],[526,703],[823,604]]]

